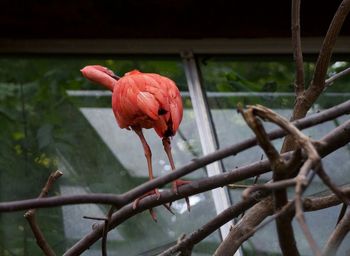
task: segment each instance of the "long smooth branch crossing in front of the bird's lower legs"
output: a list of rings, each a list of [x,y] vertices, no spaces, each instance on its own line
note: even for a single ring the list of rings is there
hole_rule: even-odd
[[[342,104],[339,104],[335,107],[332,107],[328,110],[324,110],[320,113],[316,113],[309,117],[297,120],[292,124],[298,127],[299,129],[305,129],[305,128],[314,126],[316,124],[337,118],[341,115],[347,114],[349,111],[350,111],[350,100]],[[348,129],[348,128],[344,128],[344,129]],[[344,133],[344,131],[338,131],[336,129],[334,131]],[[283,129],[276,129],[268,133],[269,139],[271,140],[283,137],[284,135],[286,135],[286,132]],[[327,139],[334,140],[334,142],[328,145],[327,147],[327,149],[329,149],[328,151],[330,152],[334,150],[334,148],[332,147],[338,147],[338,145],[344,145],[344,142],[346,142],[345,138],[347,138],[348,135],[349,134],[345,132],[343,137],[339,139],[334,137],[332,134],[329,134],[330,137]],[[140,195],[143,195],[144,193],[146,193],[151,189],[154,189],[156,187],[161,187],[177,178],[180,178],[181,176],[184,176],[190,172],[193,172],[194,170],[197,170],[203,166],[206,166],[207,164],[210,164],[214,161],[223,159],[231,155],[235,155],[255,145],[256,145],[256,138],[251,138],[251,139],[242,141],[240,143],[237,143],[235,145],[232,145],[230,147],[217,150],[214,153],[194,159],[189,164],[186,164],[178,168],[176,171],[173,171],[172,173],[169,173],[162,177],[158,177],[156,179],[148,181],[121,195],[114,195],[114,194],[70,195],[70,196],[59,196],[59,197],[50,197],[50,198],[42,198],[42,199],[28,199],[28,200],[14,201],[14,202],[3,202],[3,203],[0,203],[0,212],[21,211],[21,210],[27,210],[30,208],[55,207],[55,206],[62,206],[62,205],[68,205],[68,204],[85,204],[85,203],[109,204],[109,205],[114,205],[117,208],[120,208],[123,205],[126,205],[132,202],[137,197],[139,197]]]

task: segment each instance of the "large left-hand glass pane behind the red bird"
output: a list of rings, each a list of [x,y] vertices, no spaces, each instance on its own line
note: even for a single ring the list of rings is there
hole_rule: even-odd
[[[79,70],[90,64],[107,66],[118,75],[139,69],[172,78],[184,95],[185,106],[183,122],[172,140],[175,164],[179,167],[202,155],[178,58],[2,58],[1,201],[36,197],[56,169],[64,175],[51,195],[123,193],[148,180],[138,137],[117,126],[110,94],[81,76]],[[145,131],[145,137],[153,150],[155,175],[168,173],[161,140],[153,130]],[[204,170],[199,170],[186,179],[204,175]],[[190,213],[180,200],[172,206],[175,216],[157,207],[157,223],[144,212],[117,227],[109,235],[111,254],[152,255],[216,215],[210,193],[190,197],[190,201]],[[102,217],[107,211],[102,205],[77,205],[40,209],[37,215],[45,237],[60,255],[91,230],[93,221],[83,216]],[[211,255],[218,241],[218,234],[213,234],[195,248],[194,255]],[[0,215],[0,250],[1,255],[40,254],[23,212]],[[97,254],[99,242],[84,253]]]

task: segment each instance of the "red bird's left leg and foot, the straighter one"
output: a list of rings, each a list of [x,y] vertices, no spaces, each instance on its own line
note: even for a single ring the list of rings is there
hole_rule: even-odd
[[[145,157],[147,159],[147,167],[148,167],[148,175],[149,175],[149,179],[150,180],[153,180],[154,177],[153,177],[153,168],[152,168],[152,151],[150,149],[150,147],[148,146],[148,143],[145,139],[145,137],[143,136],[143,133],[142,133],[142,128],[140,127],[133,127],[133,130],[135,131],[135,133],[139,136],[140,140],[141,140],[141,143],[142,143],[142,146],[143,146],[143,150],[145,152]],[[146,196],[150,196],[150,195],[153,195],[153,194],[156,194],[157,195],[157,200],[160,198],[160,193],[159,193],[159,190],[157,188],[147,192],[146,194],[142,195],[141,197],[137,198],[134,203],[133,203],[133,209],[136,209],[140,200]],[[171,209],[170,209],[170,206],[168,205],[165,205],[164,204],[164,207],[170,211],[172,214],[174,214]],[[155,214],[155,212],[153,211],[152,208],[149,209],[149,212],[152,216],[152,219],[154,221],[157,221],[157,216]]]

